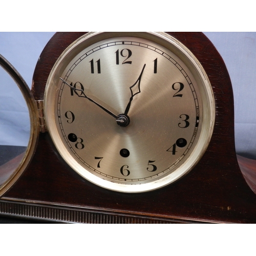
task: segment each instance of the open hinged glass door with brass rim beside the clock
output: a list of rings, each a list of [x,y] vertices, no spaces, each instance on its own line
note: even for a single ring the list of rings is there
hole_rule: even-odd
[[[24,79],[0,55],[0,196],[24,173],[39,134],[37,106]]]

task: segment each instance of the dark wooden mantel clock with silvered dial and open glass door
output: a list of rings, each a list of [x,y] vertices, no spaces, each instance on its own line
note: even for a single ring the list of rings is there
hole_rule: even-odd
[[[1,166],[1,212],[58,222],[256,221],[234,149],[232,87],[202,33],[59,32],[27,100],[26,152]]]

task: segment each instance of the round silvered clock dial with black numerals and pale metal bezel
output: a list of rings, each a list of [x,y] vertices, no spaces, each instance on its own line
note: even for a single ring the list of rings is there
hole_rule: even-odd
[[[89,33],[57,60],[45,117],[82,177],[141,192],[187,174],[209,143],[214,97],[200,63],[165,33]]]

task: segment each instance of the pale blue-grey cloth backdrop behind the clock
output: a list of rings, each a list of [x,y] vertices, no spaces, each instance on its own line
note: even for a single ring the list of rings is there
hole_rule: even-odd
[[[237,153],[256,159],[256,32],[204,33],[223,57],[232,81]],[[37,59],[53,34],[0,32],[0,54],[12,63],[29,87]],[[29,125],[25,103],[20,96],[11,100],[15,89],[7,90],[5,82],[0,82],[0,145],[26,145]],[[11,114],[15,118],[7,121]]]

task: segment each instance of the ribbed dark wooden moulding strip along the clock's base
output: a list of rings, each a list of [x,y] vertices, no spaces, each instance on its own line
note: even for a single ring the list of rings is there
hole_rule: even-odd
[[[203,223],[193,220],[136,215],[109,210],[79,208],[15,200],[0,200],[0,216],[47,223],[85,224],[177,224]]]

